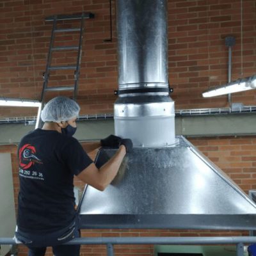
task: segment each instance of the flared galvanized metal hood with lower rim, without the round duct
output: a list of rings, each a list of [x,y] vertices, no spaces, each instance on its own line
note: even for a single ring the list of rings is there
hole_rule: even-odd
[[[256,205],[184,138],[173,147],[134,148],[104,192],[88,186],[82,228],[253,229]],[[115,150],[104,149],[97,165]]]

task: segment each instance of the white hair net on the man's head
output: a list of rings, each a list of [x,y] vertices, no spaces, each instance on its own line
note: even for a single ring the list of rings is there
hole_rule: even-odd
[[[67,121],[78,116],[80,107],[76,101],[67,97],[56,97],[45,104],[41,113],[43,122]]]

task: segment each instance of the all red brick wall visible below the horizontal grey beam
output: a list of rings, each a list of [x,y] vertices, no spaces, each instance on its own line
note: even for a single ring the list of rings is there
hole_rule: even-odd
[[[256,189],[256,149],[255,136],[234,136],[215,138],[189,138],[205,156],[219,166],[243,190]],[[11,152],[15,205],[17,207],[17,193],[19,179],[17,172],[17,146],[1,146],[0,152]],[[76,185],[82,188],[81,182]],[[83,230],[84,237],[106,236],[241,236],[247,232],[219,230]],[[20,246],[20,256],[26,255],[26,248]],[[106,255],[106,246],[83,246],[81,255],[103,256]],[[115,246],[116,255],[153,255],[153,246],[148,245],[118,245]],[[49,255],[52,255],[49,250]]]

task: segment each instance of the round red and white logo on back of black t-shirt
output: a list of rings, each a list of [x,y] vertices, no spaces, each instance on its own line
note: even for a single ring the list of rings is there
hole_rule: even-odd
[[[25,144],[19,150],[19,165],[23,170],[28,169],[35,163],[42,164],[42,161],[35,156],[36,148],[30,144]]]

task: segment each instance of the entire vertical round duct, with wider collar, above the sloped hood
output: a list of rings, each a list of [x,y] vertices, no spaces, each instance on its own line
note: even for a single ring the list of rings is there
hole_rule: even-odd
[[[135,147],[175,143],[174,102],[168,90],[166,0],[116,1],[118,99],[115,134]]]

